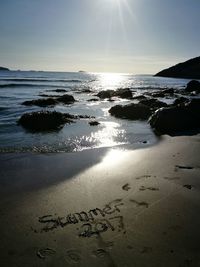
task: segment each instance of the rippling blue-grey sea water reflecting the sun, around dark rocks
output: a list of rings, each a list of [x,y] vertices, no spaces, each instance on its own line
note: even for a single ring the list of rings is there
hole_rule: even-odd
[[[0,71],[0,152],[76,152],[100,147],[138,148],[155,144],[158,138],[147,121],[117,119],[108,112],[114,105],[128,104],[133,100],[88,100],[97,98],[95,94],[101,90],[130,88],[136,96],[163,88],[182,89],[187,83],[186,79],[151,75]],[[50,108],[22,105],[26,100],[42,98],[41,94],[63,94],[55,92],[55,89],[65,89],[77,101]],[[160,100],[171,103],[173,98]],[[81,119],[66,124],[60,131],[45,133],[31,133],[17,124],[22,114],[44,109],[95,116],[100,124],[90,126],[90,119]]]

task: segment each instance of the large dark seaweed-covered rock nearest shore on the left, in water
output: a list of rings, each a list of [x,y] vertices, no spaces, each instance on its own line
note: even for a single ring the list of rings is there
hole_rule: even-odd
[[[39,111],[25,113],[18,120],[18,124],[32,132],[55,131],[61,129],[65,123],[73,122],[74,116],[56,111]]]

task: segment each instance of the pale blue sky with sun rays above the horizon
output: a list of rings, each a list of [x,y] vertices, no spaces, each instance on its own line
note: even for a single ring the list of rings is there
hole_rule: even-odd
[[[0,66],[154,74],[200,55],[200,0],[0,0]]]

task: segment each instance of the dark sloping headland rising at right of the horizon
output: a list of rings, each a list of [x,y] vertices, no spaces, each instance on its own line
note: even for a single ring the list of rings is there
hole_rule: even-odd
[[[158,72],[155,76],[200,79],[200,57],[195,57]]]

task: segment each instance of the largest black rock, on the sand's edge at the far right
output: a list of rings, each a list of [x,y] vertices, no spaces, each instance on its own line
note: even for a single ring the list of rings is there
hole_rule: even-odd
[[[169,108],[158,109],[149,119],[157,134],[177,135],[185,131],[200,131],[200,99]]]

